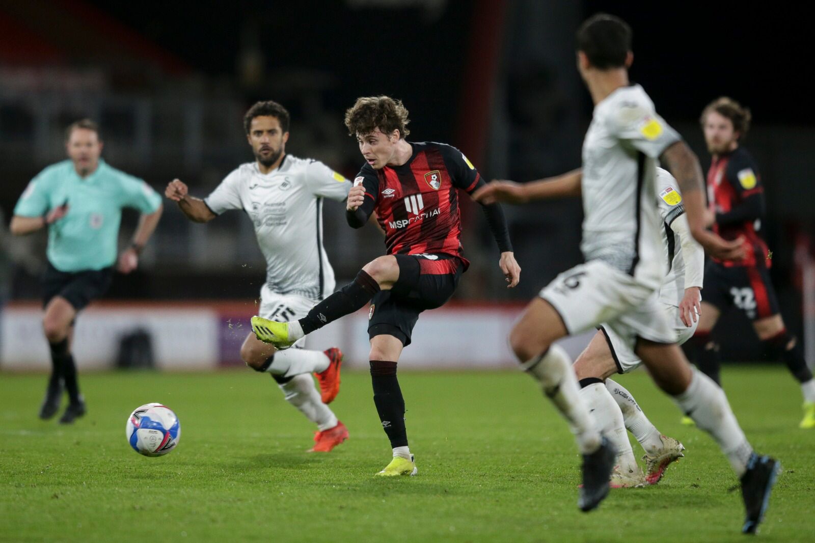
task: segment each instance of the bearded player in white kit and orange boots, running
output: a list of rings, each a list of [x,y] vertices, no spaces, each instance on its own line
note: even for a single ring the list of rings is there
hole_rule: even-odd
[[[280,104],[254,104],[244,126],[256,161],[238,166],[204,200],[189,196],[178,179],[167,185],[165,196],[196,223],[227,210],[249,214],[267,260],[258,313],[281,322],[297,320],[334,291],[333,268],[323,248],[323,199],[345,201],[351,183],[322,162],[286,154],[289,112]],[[328,408],[339,391],[342,353],[334,347],[309,351],[304,341],[293,347],[275,351],[250,332],[240,357],[258,372],[271,373],[289,404],[317,425],[310,450],[328,452],[348,438],[346,426]]]

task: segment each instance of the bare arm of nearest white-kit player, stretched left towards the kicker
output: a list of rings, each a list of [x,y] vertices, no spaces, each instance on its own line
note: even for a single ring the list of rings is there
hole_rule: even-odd
[[[529,183],[494,179],[474,192],[473,198],[482,204],[491,204],[496,201],[526,204],[528,201],[580,196],[582,172],[583,170],[573,170],[557,177],[537,179]]]

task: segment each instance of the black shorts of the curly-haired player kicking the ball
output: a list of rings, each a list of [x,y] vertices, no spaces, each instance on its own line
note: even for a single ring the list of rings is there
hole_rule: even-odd
[[[463,271],[460,259],[447,254],[395,254],[399,280],[380,290],[368,311],[368,337],[390,335],[407,347],[425,309],[441,307],[456,291]]]

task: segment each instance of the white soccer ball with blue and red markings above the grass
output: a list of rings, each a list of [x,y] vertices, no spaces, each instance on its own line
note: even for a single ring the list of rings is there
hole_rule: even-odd
[[[178,445],[181,424],[166,405],[144,404],[127,417],[126,437],[136,453],[161,457]]]

